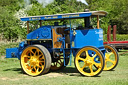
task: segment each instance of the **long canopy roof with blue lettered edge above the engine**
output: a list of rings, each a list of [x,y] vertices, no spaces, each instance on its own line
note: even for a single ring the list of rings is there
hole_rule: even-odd
[[[76,19],[90,16],[106,16],[105,11],[89,11],[89,12],[78,12],[78,13],[66,13],[66,14],[55,14],[55,15],[41,15],[41,16],[30,16],[20,18],[21,21],[34,21],[34,20],[61,20],[61,19]]]

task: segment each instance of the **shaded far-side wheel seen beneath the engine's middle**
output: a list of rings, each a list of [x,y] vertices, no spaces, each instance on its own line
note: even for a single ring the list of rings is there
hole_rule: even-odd
[[[60,54],[60,56],[57,59],[54,59],[55,61],[52,62],[51,70],[59,70],[64,66],[64,57]]]

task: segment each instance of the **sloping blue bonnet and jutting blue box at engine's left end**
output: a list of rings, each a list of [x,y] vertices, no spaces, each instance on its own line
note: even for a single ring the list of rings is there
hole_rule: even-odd
[[[38,40],[48,40],[48,39],[52,39],[51,26],[42,26],[42,27],[30,32],[27,35],[26,40],[36,40],[36,42],[37,42]],[[47,43],[42,43],[41,45],[46,46],[46,47],[49,46]],[[26,46],[28,46],[27,41],[26,42],[23,41],[19,44],[19,47],[17,47],[17,48],[7,48],[6,49],[6,58],[20,59],[22,51]],[[49,49],[49,51],[51,51],[51,49]]]

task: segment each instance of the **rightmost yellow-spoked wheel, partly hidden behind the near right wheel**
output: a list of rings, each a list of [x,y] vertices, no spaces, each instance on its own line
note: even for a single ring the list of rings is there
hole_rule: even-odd
[[[105,53],[105,67],[104,70],[112,70],[117,65],[118,55],[115,49],[112,47],[105,45],[106,53]]]

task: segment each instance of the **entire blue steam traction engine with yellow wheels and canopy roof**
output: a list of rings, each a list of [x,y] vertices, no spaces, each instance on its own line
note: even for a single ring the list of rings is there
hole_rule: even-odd
[[[17,48],[7,48],[6,58],[18,58],[23,71],[31,76],[45,74],[49,70],[60,70],[72,61],[84,76],[97,76],[103,70],[117,66],[118,53],[115,48],[103,45],[103,30],[99,28],[99,16],[104,11],[89,11],[57,15],[21,18],[27,21],[27,39]],[[97,28],[90,26],[90,18],[97,17]],[[72,27],[71,20],[84,19],[84,26]],[[40,28],[29,33],[29,21],[40,21]],[[42,26],[42,21],[69,20],[70,26]]]

